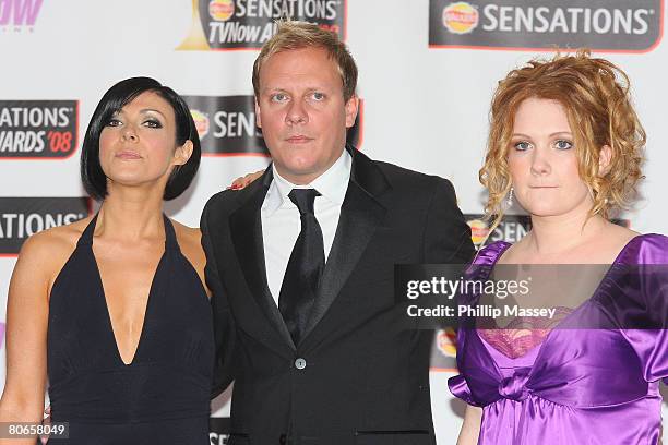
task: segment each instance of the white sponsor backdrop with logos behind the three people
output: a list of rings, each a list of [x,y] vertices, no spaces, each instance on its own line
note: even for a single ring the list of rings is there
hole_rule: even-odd
[[[118,80],[154,76],[192,107],[205,157],[189,191],[166,204],[171,217],[198,226],[208,196],[267,165],[254,127],[251,69],[273,21],[286,14],[332,29],[350,46],[365,100],[363,119],[348,140],[362,145],[363,134],[362,149],[371,157],[449,178],[478,243],[487,227],[477,171],[497,82],[536,55],[551,57],[557,47],[598,50],[630,75],[648,134],[643,200],[617,217],[642,232],[668,233],[664,2],[118,0],[108,8],[0,0],[0,53],[8,68],[0,83],[0,323],[25,237],[94,211],[79,181],[81,141],[97,101]],[[490,239],[516,241],[528,229],[526,218],[509,216]],[[445,384],[454,358],[454,333],[434,333],[439,444],[455,442],[464,409]],[[227,441],[229,393],[212,405],[212,444]]]

